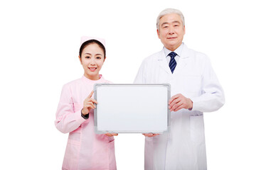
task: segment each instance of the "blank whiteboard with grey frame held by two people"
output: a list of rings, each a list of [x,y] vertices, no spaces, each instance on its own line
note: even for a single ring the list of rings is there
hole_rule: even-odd
[[[170,84],[95,84],[95,132],[166,131],[170,89]]]

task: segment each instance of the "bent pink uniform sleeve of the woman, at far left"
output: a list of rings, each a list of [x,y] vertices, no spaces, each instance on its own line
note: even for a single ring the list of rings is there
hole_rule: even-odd
[[[76,130],[85,120],[81,111],[74,111],[71,90],[68,84],[63,86],[60,95],[60,102],[56,112],[55,127],[60,132],[67,133]]]

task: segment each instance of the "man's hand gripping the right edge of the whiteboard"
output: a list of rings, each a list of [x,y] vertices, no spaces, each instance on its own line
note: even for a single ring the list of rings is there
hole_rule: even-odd
[[[172,96],[168,102],[170,111],[178,111],[181,108],[192,109],[193,102],[190,98],[186,98],[182,94]]]

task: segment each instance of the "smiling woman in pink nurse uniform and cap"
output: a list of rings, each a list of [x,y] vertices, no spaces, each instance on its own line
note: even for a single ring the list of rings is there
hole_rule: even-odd
[[[84,69],[80,79],[63,86],[55,126],[68,133],[62,169],[117,169],[114,137],[117,134],[95,134],[93,99],[95,83],[110,83],[99,74],[106,59],[105,40],[82,37],[79,60]]]

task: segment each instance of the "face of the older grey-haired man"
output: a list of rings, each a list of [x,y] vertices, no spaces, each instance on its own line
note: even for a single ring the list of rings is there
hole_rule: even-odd
[[[160,19],[157,35],[167,49],[176,50],[181,45],[184,34],[185,26],[178,14],[170,13]]]

